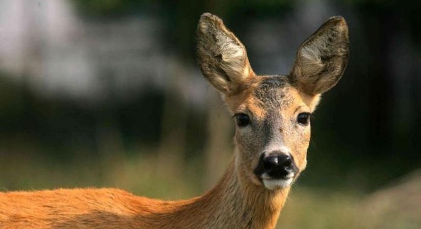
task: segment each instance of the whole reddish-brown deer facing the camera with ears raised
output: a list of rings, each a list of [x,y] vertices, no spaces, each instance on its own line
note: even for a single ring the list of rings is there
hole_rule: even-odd
[[[257,75],[240,40],[204,13],[196,57],[236,125],[232,159],[214,188],[181,201],[115,188],[2,192],[0,228],[274,228],[307,165],[310,116],[348,62],[348,26],[329,18],[298,48],[290,73]]]

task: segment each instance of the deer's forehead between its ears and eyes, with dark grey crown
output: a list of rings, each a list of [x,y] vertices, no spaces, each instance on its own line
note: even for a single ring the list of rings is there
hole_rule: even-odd
[[[318,101],[314,97],[300,93],[286,76],[257,76],[257,80],[246,85],[237,95],[226,97],[233,113],[251,112],[253,117],[264,120],[268,113],[287,116],[301,106],[308,106],[309,112]],[[278,116],[272,116],[278,117]]]

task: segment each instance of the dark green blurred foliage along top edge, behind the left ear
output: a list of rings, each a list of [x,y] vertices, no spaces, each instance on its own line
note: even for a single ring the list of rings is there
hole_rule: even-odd
[[[291,9],[290,0],[72,0],[85,17],[109,18],[145,13],[160,15],[167,23],[167,44],[172,44],[184,58],[192,59],[197,20],[204,12],[217,13],[229,26],[246,26],[240,23],[246,17],[282,16]]]

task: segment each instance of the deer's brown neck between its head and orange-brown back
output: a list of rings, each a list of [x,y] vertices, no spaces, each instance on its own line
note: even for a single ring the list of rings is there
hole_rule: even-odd
[[[241,182],[235,158],[218,184],[203,196],[178,202],[171,228],[274,228],[289,188],[271,191]],[[175,207],[175,206],[173,206]],[[174,208],[172,208],[174,210]],[[177,225],[179,224],[179,225]]]

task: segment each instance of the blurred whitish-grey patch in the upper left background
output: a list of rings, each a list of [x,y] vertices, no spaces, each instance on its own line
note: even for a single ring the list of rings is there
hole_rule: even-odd
[[[153,17],[92,22],[64,0],[3,0],[0,71],[46,96],[124,97],[143,85],[163,87],[168,75],[186,71],[164,52],[161,33]]]

